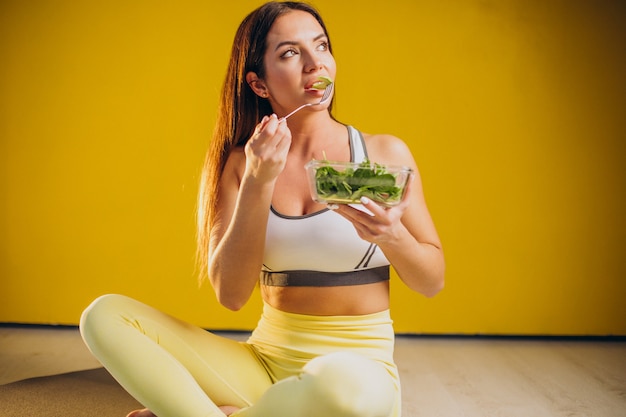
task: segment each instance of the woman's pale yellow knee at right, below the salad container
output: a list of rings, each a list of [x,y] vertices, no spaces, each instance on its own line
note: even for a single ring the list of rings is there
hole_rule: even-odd
[[[350,352],[311,360],[303,369],[310,378],[315,407],[322,415],[388,417],[395,401],[391,375],[376,361]]]

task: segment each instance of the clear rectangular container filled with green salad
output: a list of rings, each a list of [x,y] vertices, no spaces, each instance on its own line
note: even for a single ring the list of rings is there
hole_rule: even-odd
[[[373,162],[312,160],[305,169],[313,200],[319,203],[359,204],[367,197],[386,207],[402,201],[413,170]]]

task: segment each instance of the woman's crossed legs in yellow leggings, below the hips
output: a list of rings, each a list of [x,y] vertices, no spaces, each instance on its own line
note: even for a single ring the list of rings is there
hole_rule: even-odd
[[[274,384],[249,345],[125,296],[96,299],[80,329],[103,366],[158,417],[224,417],[236,409],[228,415],[389,417],[397,398],[381,364],[349,352],[316,357]]]

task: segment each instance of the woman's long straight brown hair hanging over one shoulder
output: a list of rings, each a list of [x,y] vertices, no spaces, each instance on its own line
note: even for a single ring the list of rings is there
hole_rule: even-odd
[[[198,200],[197,261],[201,279],[206,276],[210,230],[215,222],[219,182],[228,155],[244,146],[259,121],[272,114],[267,99],[257,96],[245,80],[248,72],[265,77],[264,56],[267,34],[274,21],[292,10],[311,14],[328,31],[322,17],[312,6],[301,2],[269,2],[250,13],[239,25],[222,87],[213,138],[207,150]],[[330,40],[328,47],[332,53]],[[331,103],[332,108],[332,103]]]

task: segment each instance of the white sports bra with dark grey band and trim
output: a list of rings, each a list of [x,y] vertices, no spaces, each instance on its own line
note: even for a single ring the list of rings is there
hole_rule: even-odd
[[[361,162],[367,158],[363,137],[352,126],[347,129],[350,160]],[[377,245],[361,239],[352,223],[337,213],[323,209],[304,216],[286,216],[271,207],[262,284],[334,286],[386,279],[389,261],[385,255]]]

